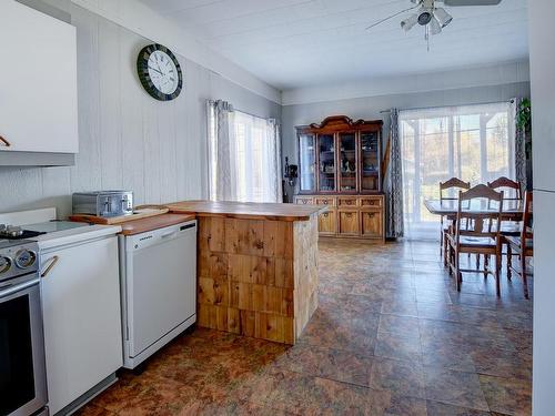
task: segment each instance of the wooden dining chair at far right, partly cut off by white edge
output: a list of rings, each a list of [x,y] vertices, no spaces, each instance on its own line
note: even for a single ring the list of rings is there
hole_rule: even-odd
[[[524,297],[528,295],[528,280],[533,271],[526,266],[526,257],[534,256],[534,231],[533,231],[533,193],[526,192],[524,195],[524,213],[519,236],[506,235],[504,240],[507,244],[507,277],[511,280],[512,273],[516,273],[523,280]],[[518,255],[518,267],[513,266],[513,255]]]

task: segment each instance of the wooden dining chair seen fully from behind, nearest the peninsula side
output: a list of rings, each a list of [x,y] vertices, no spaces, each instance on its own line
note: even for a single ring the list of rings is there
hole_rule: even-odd
[[[487,207],[481,213],[471,211],[473,202],[480,204],[486,200]],[[494,207],[494,203],[496,206]],[[497,296],[501,296],[501,255],[502,236],[500,224],[503,214],[503,191],[496,192],[493,189],[480,184],[466,192],[458,193],[458,210],[456,221],[452,231],[446,233],[447,250],[450,251],[450,273],[456,280],[456,290],[461,292],[463,273],[493,274],[496,281]],[[495,256],[495,268],[490,268],[488,262],[484,262],[484,268],[462,268],[461,254],[483,254],[487,258]],[[468,262],[470,267],[470,262]]]

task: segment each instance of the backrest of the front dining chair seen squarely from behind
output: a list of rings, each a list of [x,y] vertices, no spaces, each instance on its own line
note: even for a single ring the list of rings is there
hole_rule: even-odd
[[[476,200],[476,204],[473,204]],[[486,203],[481,204],[481,201]],[[492,207],[492,202],[496,207]],[[478,210],[478,206],[482,210]],[[501,244],[501,220],[503,214],[503,191],[497,192],[480,184],[466,192],[458,193],[458,211],[456,221],[457,244],[461,236],[490,237]]]

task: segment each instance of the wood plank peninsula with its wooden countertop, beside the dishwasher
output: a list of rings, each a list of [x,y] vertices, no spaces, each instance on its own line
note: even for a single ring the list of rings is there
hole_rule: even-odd
[[[325,207],[164,206],[199,221],[199,326],[294,344],[317,307],[317,215]]]

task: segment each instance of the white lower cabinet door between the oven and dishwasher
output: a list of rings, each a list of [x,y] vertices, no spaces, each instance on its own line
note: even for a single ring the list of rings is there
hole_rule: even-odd
[[[56,263],[53,263],[56,261]],[[115,236],[42,254],[49,408],[56,414],[122,365]]]

